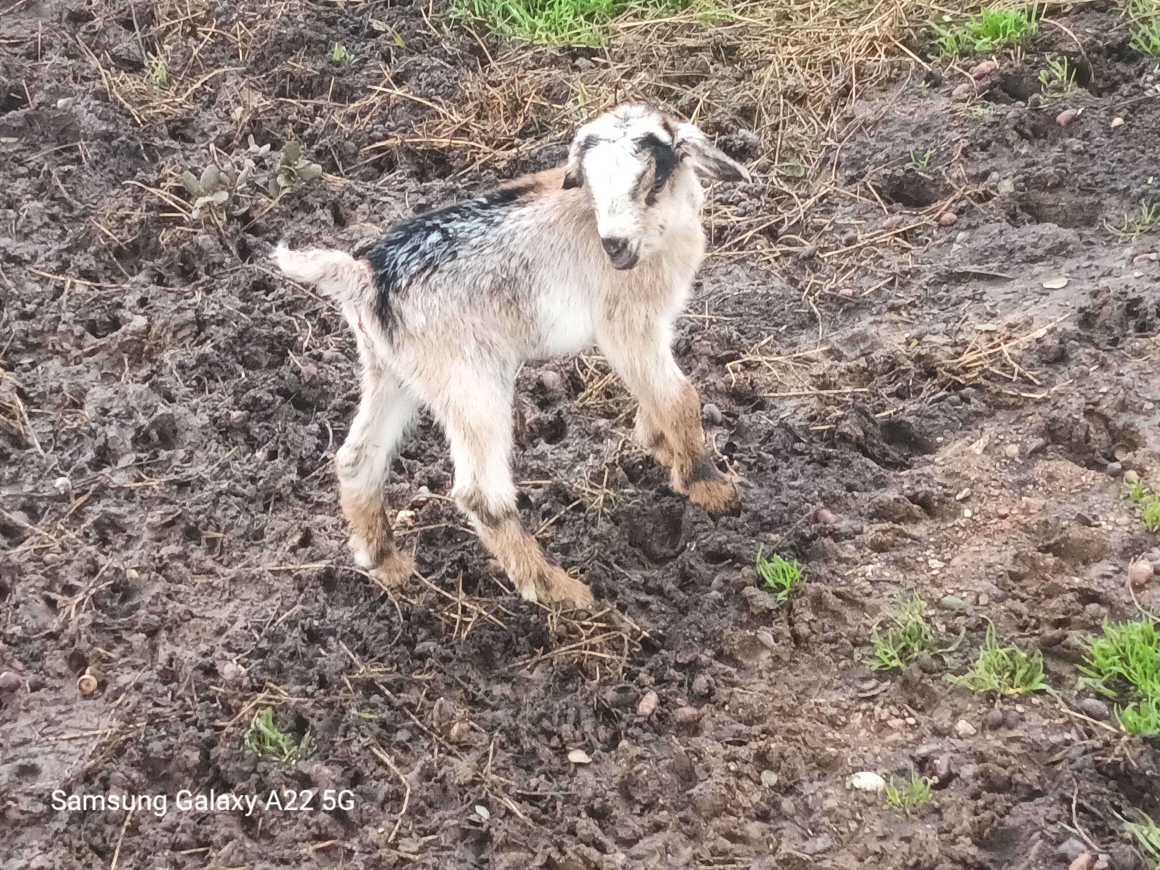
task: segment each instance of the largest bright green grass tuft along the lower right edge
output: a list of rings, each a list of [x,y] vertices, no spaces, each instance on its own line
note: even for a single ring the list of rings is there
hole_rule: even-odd
[[[1080,673],[1083,682],[1108,697],[1134,695],[1128,706],[1116,706],[1116,720],[1124,731],[1160,734],[1160,644],[1150,617],[1105,622],[1103,636],[1088,640]]]

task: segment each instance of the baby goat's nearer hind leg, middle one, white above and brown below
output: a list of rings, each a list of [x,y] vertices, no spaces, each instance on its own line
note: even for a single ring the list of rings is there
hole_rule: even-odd
[[[449,376],[429,403],[451,442],[451,495],[525,601],[590,608],[588,587],[548,561],[520,524],[510,466],[514,384],[510,376],[484,383],[493,376],[487,367]]]

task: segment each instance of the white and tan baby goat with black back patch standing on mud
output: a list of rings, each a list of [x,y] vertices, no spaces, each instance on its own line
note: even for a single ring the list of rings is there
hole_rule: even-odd
[[[451,494],[515,588],[590,606],[520,524],[509,455],[521,361],[593,345],[639,401],[636,438],[672,469],[673,488],[710,512],[737,498],[669,350],[705,251],[697,175],[749,177],[694,125],[621,106],[580,128],[566,166],[406,218],[364,259],[278,246],[282,271],[340,302],[357,338],[362,401],[336,465],[361,567],[386,582],[411,573],[383,487],[422,405],[451,444]]]

